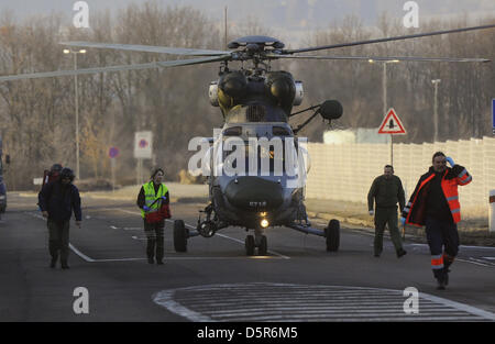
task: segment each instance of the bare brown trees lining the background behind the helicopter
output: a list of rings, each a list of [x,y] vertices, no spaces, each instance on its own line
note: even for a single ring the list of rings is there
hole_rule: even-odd
[[[495,18],[474,24],[495,22]],[[417,32],[447,30],[473,24],[468,18],[429,21]],[[410,34],[402,19],[383,14],[374,27],[358,16],[345,16],[328,27],[308,32],[302,45],[316,46]],[[273,35],[266,23],[248,18],[230,25],[228,41],[244,35]],[[279,37],[289,47],[290,37]],[[78,30],[61,14],[18,21],[14,13],[0,13],[0,74],[73,69],[73,55],[64,55],[58,43],[90,41],[142,45],[224,49],[221,23],[191,7],[162,7],[156,2],[131,4],[117,13],[91,13],[91,27]],[[383,43],[319,52],[319,55],[360,56],[495,56],[495,30],[485,30],[407,42]],[[78,55],[78,68],[141,64],[183,58],[164,54],[88,49]],[[231,64],[231,67],[240,66]],[[135,181],[134,132],[153,132],[155,157],[145,160],[151,169],[161,166],[167,179],[187,168],[188,142],[212,136],[222,115],[208,101],[209,82],[218,77],[218,64],[166,69],[130,70],[78,77],[81,178],[110,178],[108,149],[117,146],[119,184]],[[364,62],[272,63],[273,69],[289,70],[305,84],[309,107],[338,99],[344,114],[341,129],[377,127],[383,118],[381,64]],[[439,86],[440,140],[481,137],[491,134],[491,99],[495,96],[493,63],[399,63],[387,74],[387,104],[400,114],[408,135],[402,142],[432,140],[433,86]],[[0,131],[3,151],[11,155],[6,173],[10,189],[30,188],[32,178],[54,163],[75,168],[74,77],[0,82]],[[297,123],[294,123],[297,124]],[[328,129],[318,120],[301,135],[321,142]]]

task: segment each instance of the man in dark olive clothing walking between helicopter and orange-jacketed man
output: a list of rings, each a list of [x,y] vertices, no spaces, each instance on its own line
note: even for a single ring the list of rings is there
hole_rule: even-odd
[[[376,201],[376,211],[373,210],[373,203]],[[394,243],[397,257],[400,258],[407,252],[403,248],[399,230],[397,228],[397,202],[400,211],[406,202],[404,188],[400,178],[394,176],[394,167],[386,165],[384,173],[373,180],[367,193],[367,209],[370,215],[375,215],[375,241],[374,254],[380,257],[383,251],[383,232],[385,224],[388,224],[391,238]]]

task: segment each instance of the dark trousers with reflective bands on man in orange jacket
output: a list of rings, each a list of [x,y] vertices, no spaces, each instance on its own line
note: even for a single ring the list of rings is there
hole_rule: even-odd
[[[441,278],[459,253],[458,225],[452,221],[426,219],[426,234],[431,253],[431,269]]]

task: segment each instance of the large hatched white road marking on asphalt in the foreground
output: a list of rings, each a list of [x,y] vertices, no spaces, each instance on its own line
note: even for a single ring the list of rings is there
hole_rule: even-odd
[[[419,293],[406,314],[403,290],[293,284],[221,284],[167,289],[155,303],[189,321],[495,321],[495,314]]]

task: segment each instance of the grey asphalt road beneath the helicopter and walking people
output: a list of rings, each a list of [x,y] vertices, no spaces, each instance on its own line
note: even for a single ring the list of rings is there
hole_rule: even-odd
[[[72,268],[62,270],[48,267],[35,203],[10,193],[0,221],[0,321],[495,321],[495,248],[461,247],[439,291],[424,244],[406,242],[397,259],[386,238],[375,258],[362,229],[343,225],[340,251],[328,253],[322,237],[276,228],[266,231],[268,255],[248,257],[245,231],[232,228],[176,253],[168,222],[165,265],[148,265],[139,209],[86,198],[82,228],[70,228]],[[195,225],[200,207],[174,203],[174,219]],[[74,296],[78,287],[87,303]],[[419,291],[418,313],[409,287]]]

